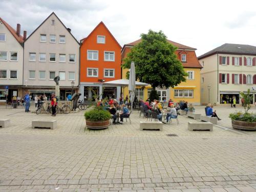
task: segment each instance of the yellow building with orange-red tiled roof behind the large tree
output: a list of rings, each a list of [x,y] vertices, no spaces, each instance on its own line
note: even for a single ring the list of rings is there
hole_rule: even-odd
[[[122,60],[130,53],[131,49],[137,45],[141,39],[131,42],[130,44],[125,44],[122,48]],[[178,59],[182,62],[184,70],[188,73],[186,82],[181,82],[178,86],[174,88],[156,88],[159,100],[162,102],[167,102],[172,99],[174,102],[179,102],[181,100],[187,101],[194,105],[200,105],[200,71],[202,66],[200,65],[196,49],[188,46],[178,44],[177,42],[167,40],[170,44],[176,46],[176,54]],[[126,72],[128,69],[122,69],[122,78],[126,78]],[[137,87],[135,95],[139,99],[146,100],[150,96],[152,88],[151,86],[146,86],[144,88]],[[124,98],[126,95],[129,96],[128,88],[123,89]]]

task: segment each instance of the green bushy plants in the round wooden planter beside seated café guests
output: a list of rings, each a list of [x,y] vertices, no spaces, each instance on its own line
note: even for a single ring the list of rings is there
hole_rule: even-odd
[[[110,112],[103,110],[100,106],[95,106],[94,109],[84,113],[86,120],[90,121],[106,121],[111,118]]]

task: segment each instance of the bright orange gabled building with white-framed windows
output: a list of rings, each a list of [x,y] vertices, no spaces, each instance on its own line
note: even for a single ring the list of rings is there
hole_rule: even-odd
[[[86,37],[80,47],[80,93],[84,100],[93,98],[118,98],[120,87],[103,87],[102,83],[121,79],[121,46],[100,22]]]

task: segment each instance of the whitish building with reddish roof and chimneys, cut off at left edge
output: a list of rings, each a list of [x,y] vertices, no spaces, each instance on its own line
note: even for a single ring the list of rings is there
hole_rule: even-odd
[[[20,25],[13,29],[0,17],[0,102],[11,101],[13,96],[22,96],[23,84],[23,42]],[[8,88],[8,93],[6,93]]]

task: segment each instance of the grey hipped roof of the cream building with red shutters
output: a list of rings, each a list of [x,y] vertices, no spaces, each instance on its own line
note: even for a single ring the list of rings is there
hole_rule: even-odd
[[[217,53],[237,54],[237,55],[256,55],[256,47],[250,46],[250,45],[241,45],[241,44],[223,44],[220,47],[217,47],[203,55],[200,55],[198,59],[202,59]]]

